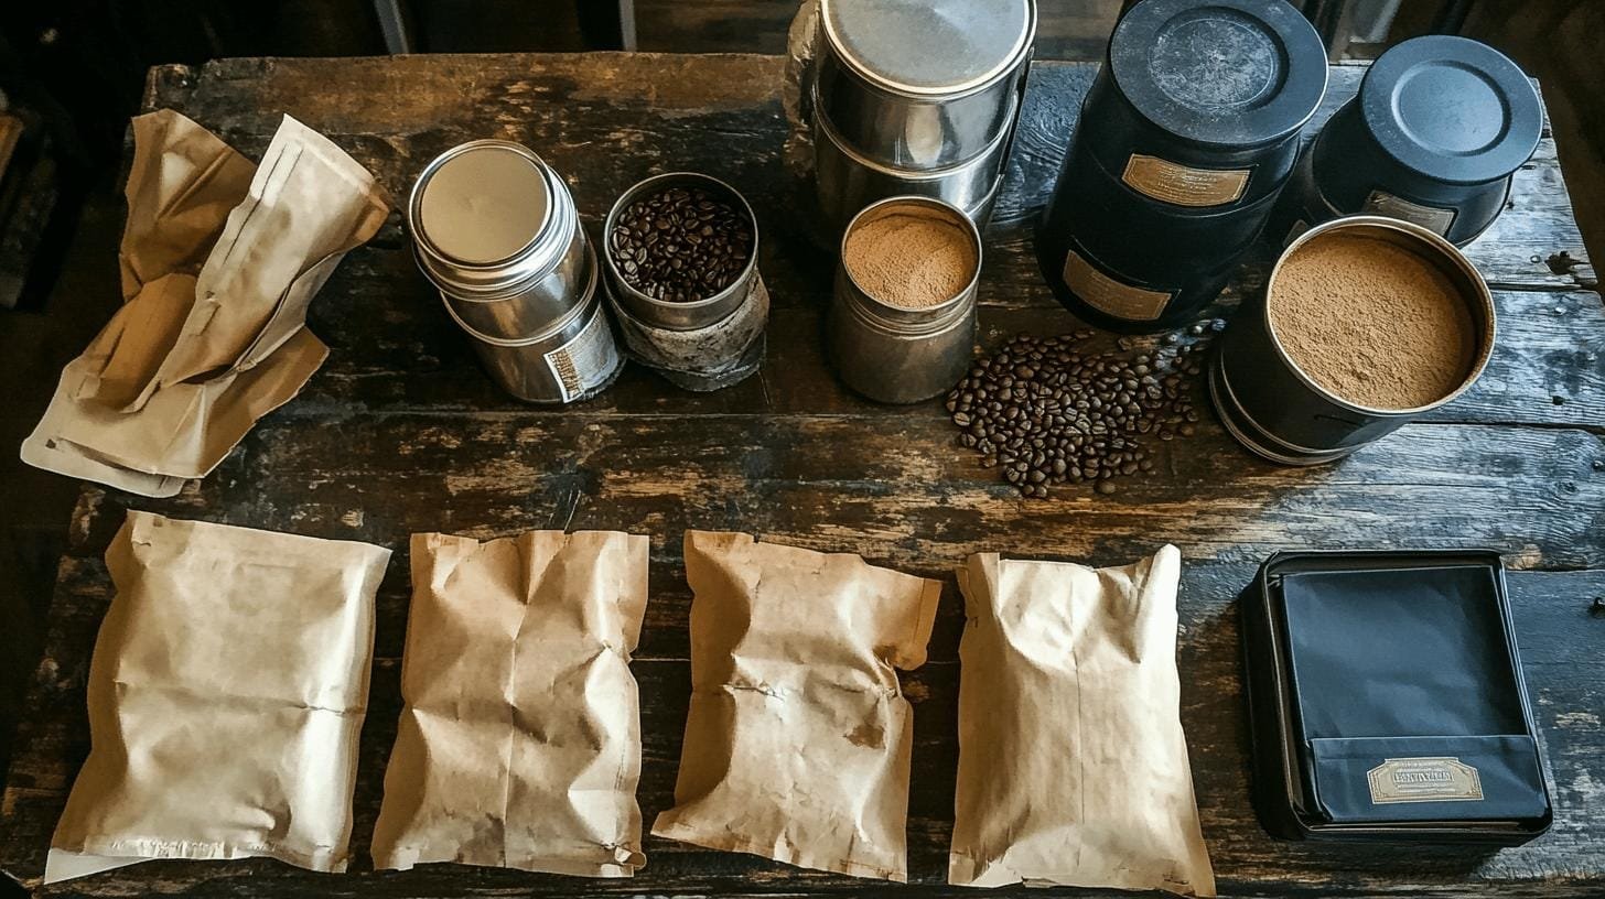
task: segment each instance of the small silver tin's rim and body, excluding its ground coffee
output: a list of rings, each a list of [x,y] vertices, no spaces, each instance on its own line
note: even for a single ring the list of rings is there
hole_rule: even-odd
[[[888,215],[923,215],[955,226],[974,249],[974,271],[965,287],[941,303],[907,308],[870,295],[854,281],[846,263],[847,241],[857,228]],[[881,403],[918,403],[958,382],[976,345],[981,231],[974,222],[939,199],[888,197],[852,218],[841,250],[828,339],[843,382]]]

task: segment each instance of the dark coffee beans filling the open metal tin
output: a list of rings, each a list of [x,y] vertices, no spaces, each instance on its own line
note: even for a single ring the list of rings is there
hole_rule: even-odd
[[[608,247],[631,287],[655,300],[693,303],[742,275],[753,252],[753,225],[701,188],[666,188],[624,209]]]

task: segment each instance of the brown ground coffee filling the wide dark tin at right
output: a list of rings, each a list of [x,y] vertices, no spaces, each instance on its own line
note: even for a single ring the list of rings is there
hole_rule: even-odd
[[[1465,380],[1477,352],[1454,283],[1377,238],[1332,234],[1300,247],[1271,284],[1270,315],[1305,374],[1374,409],[1441,400]]]

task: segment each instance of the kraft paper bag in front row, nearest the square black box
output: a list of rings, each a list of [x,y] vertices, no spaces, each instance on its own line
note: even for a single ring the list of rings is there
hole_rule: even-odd
[[[1213,896],[1176,677],[1181,554],[1124,568],[971,555],[958,572],[949,883]]]

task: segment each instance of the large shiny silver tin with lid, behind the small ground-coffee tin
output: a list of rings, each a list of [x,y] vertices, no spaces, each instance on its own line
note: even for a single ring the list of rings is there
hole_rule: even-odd
[[[891,196],[992,215],[1037,32],[1034,0],[820,0],[814,172],[831,228]]]

